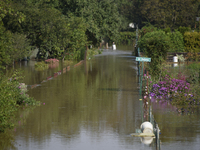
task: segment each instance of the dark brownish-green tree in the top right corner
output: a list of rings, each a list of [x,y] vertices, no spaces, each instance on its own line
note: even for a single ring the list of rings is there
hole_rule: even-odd
[[[141,13],[158,27],[194,26],[199,0],[144,0]]]

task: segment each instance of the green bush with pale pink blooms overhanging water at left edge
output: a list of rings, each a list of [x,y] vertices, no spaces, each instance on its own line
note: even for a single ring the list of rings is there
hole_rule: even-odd
[[[15,71],[11,77],[0,76],[0,132],[14,126],[12,120],[19,105],[36,105],[33,98],[26,94],[27,89],[24,83],[19,83],[22,76]]]

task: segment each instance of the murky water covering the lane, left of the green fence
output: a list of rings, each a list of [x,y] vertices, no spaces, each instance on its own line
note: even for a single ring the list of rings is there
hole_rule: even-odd
[[[127,136],[141,123],[140,108],[135,107],[136,71],[132,58],[121,56],[117,51],[114,56],[98,56],[68,72],[24,68],[29,76],[25,83],[41,85],[29,95],[45,105],[36,107],[16,129],[16,148],[140,149],[140,139]],[[59,70],[59,76],[42,82]]]

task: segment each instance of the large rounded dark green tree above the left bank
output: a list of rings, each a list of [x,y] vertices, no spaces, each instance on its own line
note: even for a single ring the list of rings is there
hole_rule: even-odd
[[[39,47],[38,58],[61,58],[69,41],[69,24],[55,8],[27,9],[25,33]],[[40,19],[38,19],[40,18]]]

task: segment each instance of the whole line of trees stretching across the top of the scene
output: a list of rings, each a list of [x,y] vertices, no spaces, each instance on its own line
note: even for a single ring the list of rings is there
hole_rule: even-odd
[[[89,45],[118,41],[130,22],[199,28],[200,0],[2,0],[0,67],[39,49],[38,59],[82,59]],[[123,34],[124,36],[124,34]],[[124,36],[127,38],[128,36]],[[133,37],[133,36],[132,36]],[[123,39],[121,39],[123,41]]]

